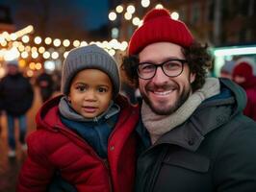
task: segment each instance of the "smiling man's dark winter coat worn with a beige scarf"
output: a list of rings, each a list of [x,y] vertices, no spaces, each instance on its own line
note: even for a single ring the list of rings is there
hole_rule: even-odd
[[[137,129],[137,192],[256,191],[256,123],[243,115],[243,89],[229,80],[220,86],[219,95],[154,145]]]

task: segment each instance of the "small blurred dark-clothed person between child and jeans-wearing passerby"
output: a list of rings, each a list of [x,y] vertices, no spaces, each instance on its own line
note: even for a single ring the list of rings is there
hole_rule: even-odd
[[[39,93],[42,103],[51,98],[54,91],[54,81],[51,74],[48,74],[45,69],[38,75],[36,84],[39,87]]]

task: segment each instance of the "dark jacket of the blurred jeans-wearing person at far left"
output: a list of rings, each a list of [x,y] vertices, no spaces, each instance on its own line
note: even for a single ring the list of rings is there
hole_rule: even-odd
[[[1,108],[13,116],[25,114],[34,98],[33,87],[21,73],[7,75],[0,81]]]

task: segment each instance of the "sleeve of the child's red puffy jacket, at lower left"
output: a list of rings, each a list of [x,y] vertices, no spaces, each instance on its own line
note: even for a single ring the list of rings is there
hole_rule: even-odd
[[[47,140],[32,133],[28,139],[28,156],[19,173],[17,182],[18,192],[43,192],[47,190],[54,175],[54,166],[48,160],[44,143]]]

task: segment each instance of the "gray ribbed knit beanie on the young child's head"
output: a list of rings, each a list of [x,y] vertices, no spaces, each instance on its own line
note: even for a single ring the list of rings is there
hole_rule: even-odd
[[[114,98],[119,92],[120,79],[115,59],[95,44],[72,49],[64,60],[62,92],[69,93],[71,81],[84,69],[99,69],[105,72],[113,84]]]

